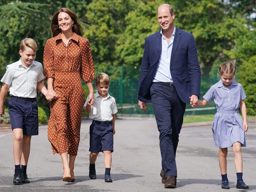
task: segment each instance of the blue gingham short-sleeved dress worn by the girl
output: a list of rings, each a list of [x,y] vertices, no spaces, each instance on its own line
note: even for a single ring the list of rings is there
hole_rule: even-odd
[[[229,88],[226,88],[220,80],[211,86],[203,98],[207,102],[214,99],[217,107],[212,123],[215,145],[225,148],[240,142],[241,147],[246,147],[243,122],[238,113],[240,101],[246,98],[242,85],[232,81]]]

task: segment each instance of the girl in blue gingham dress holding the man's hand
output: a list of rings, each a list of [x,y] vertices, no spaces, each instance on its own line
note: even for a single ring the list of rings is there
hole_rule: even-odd
[[[248,130],[246,105],[244,99],[246,94],[240,83],[233,81],[236,74],[236,66],[231,62],[223,63],[219,68],[221,80],[211,86],[204,95],[204,100],[194,100],[194,106],[207,105],[214,99],[217,113],[212,123],[212,134],[215,145],[219,147],[219,165],[222,177],[222,189],[229,189],[227,178],[227,154],[228,148],[233,146],[234,162],[237,172],[237,189],[248,189],[243,182],[243,159],[241,147],[246,147],[244,132]],[[197,103],[198,102],[198,103]],[[240,108],[242,119],[238,113]]]

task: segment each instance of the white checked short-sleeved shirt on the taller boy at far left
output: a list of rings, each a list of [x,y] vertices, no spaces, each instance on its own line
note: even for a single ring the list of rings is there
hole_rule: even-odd
[[[22,65],[21,58],[6,67],[1,81],[10,86],[10,95],[35,98],[37,82],[44,79],[42,64],[33,61],[28,68]]]

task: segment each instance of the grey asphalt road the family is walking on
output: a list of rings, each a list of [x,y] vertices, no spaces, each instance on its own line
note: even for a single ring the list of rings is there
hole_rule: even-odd
[[[47,139],[47,125],[40,125],[39,135],[31,140],[27,168],[30,184],[13,185],[14,161],[11,130],[0,130],[0,191],[256,191],[256,123],[249,124],[247,147],[243,152],[243,179],[249,189],[236,189],[236,170],[232,147],[228,153],[228,178],[231,189],[221,189],[218,147],[212,139],[211,125],[189,126],[180,133],[176,162],[177,188],[165,189],[159,176],[161,155],[155,119],[118,119],[114,135],[111,176],[113,183],[104,182],[104,156],[96,162],[97,179],[89,172],[89,126],[81,125],[81,140],[75,162],[75,182],[62,182],[62,163],[59,154],[53,155]]]

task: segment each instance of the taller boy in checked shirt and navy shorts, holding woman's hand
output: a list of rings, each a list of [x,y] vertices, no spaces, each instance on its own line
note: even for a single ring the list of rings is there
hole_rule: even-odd
[[[0,92],[0,115],[4,115],[4,100],[10,88],[8,111],[13,130],[14,178],[13,184],[29,183],[27,163],[30,152],[31,135],[38,135],[38,108],[36,89],[44,95],[46,87],[41,63],[36,58],[36,41],[30,38],[20,42],[20,60],[7,65],[6,73],[1,79],[3,86]],[[20,167],[21,161],[21,167]]]

